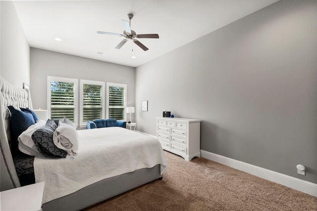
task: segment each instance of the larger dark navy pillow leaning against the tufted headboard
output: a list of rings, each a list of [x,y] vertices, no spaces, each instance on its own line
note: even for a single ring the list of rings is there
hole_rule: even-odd
[[[8,106],[11,112],[10,133],[11,133],[11,150],[16,152],[18,150],[18,137],[28,127],[35,124],[35,120],[31,113],[16,110],[13,106]]]

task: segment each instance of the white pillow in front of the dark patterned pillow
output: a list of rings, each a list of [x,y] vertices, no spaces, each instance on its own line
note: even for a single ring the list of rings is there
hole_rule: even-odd
[[[68,155],[74,156],[78,151],[78,134],[74,127],[59,122],[53,134],[53,142],[59,149],[65,150]]]

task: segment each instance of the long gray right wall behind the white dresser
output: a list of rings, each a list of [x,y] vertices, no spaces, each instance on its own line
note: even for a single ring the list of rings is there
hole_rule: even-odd
[[[202,150],[317,183],[316,20],[316,0],[281,0],[137,67],[137,129],[201,119]]]

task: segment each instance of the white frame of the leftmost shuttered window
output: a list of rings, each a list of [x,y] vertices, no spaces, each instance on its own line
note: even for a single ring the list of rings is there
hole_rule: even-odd
[[[65,82],[65,83],[74,83],[74,124],[77,127],[78,126],[78,79],[71,79],[71,78],[63,78],[63,77],[54,77],[54,76],[48,76],[47,78],[47,109],[49,113],[49,118],[51,119],[51,81],[57,81],[57,82]]]

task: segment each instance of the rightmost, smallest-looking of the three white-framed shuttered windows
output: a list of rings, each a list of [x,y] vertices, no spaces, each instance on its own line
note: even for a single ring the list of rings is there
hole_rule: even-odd
[[[107,83],[107,119],[126,120],[126,84]]]

